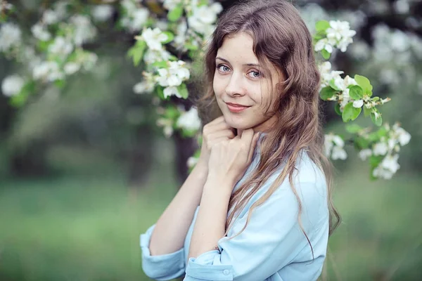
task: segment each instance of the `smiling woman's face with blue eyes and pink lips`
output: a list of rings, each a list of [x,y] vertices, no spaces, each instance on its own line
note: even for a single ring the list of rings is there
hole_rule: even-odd
[[[265,72],[252,46],[252,37],[244,32],[224,39],[215,58],[213,87],[229,126],[266,131],[276,122],[276,84],[282,76],[272,65]]]

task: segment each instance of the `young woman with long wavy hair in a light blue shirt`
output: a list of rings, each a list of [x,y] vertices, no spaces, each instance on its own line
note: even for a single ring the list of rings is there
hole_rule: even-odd
[[[226,11],[205,77],[198,108],[212,121],[198,164],[141,235],[144,272],[156,280],[316,280],[339,217],[319,72],[298,11],[284,0]]]

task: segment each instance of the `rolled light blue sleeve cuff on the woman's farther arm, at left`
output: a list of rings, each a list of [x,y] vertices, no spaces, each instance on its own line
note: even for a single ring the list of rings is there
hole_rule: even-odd
[[[155,280],[172,280],[184,274],[184,248],[171,254],[151,256],[149,244],[155,224],[141,235],[142,269],[150,278]]]

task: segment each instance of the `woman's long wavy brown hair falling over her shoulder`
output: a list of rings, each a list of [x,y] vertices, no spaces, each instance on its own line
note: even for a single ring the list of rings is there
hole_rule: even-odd
[[[203,91],[204,96],[197,102],[200,117],[206,124],[222,115],[212,87],[215,58],[224,39],[239,32],[252,37],[253,52],[261,65],[271,63],[283,74],[284,81],[279,81],[276,86],[277,96],[272,106],[275,112],[271,110],[278,117],[277,124],[282,125],[274,126],[267,133],[260,143],[261,155],[257,168],[231,195],[229,209],[232,211],[226,221],[226,233],[234,217],[240,214],[250,198],[281,164],[285,164],[269,190],[252,204],[241,232],[248,225],[252,210],[265,202],[288,176],[298,200],[300,227],[309,242],[300,220],[302,203],[293,185],[296,160],[306,150],[326,176],[331,234],[340,223],[340,216],[331,199],[331,163],[324,155],[324,133],[319,117],[320,75],[315,63],[311,34],[292,4],[286,0],[248,1],[229,8],[219,18],[205,54],[206,89]]]

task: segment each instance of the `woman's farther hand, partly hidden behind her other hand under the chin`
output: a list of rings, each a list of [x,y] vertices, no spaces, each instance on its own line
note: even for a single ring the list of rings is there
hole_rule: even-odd
[[[229,141],[231,138],[234,138],[234,131],[227,125],[224,116],[220,116],[212,120],[212,122],[205,124],[198,164],[200,164],[200,166],[205,166],[206,169],[208,169],[211,148],[215,144],[221,143],[222,141]]]

